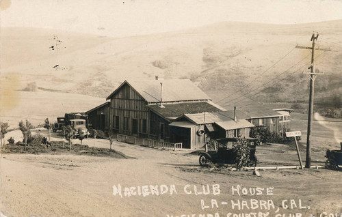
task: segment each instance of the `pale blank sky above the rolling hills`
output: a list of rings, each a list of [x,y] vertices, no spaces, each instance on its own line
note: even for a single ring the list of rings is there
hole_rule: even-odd
[[[295,24],[342,19],[342,0],[1,0],[1,27],[124,37],[224,21]]]

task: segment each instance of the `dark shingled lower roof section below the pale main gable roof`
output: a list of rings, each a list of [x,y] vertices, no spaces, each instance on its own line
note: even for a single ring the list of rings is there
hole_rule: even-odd
[[[202,112],[217,112],[221,111],[213,104],[208,102],[183,102],[176,104],[163,104],[165,108],[160,108],[159,105],[149,105],[150,108],[155,113],[161,115],[162,117],[181,117],[183,114],[193,114]]]

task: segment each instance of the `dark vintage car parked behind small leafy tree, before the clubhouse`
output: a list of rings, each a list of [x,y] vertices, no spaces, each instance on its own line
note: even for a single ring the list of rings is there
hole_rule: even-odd
[[[255,151],[257,147],[257,139],[245,138],[248,142],[248,147],[250,147],[250,159],[248,162],[248,167],[257,167],[257,156],[255,156]],[[237,138],[223,138],[217,139],[218,148],[214,151],[202,151],[200,154],[199,162],[200,165],[208,164],[209,162],[221,163],[221,164],[235,164],[235,151],[230,148],[229,144],[237,142]],[[220,147],[222,146],[222,147]]]

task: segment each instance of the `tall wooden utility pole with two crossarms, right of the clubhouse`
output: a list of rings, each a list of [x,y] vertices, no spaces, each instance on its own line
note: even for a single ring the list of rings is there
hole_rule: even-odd
[[[313,35],[311,36],[311,41],[313,42],[312,47],[295,46],[296,48],[312,50],[311,66],[309,67],[309,69],[311,69],[310,73],[304,73],[304,74],[310,75],[310,96],[308,100],[308,132],[307,132],[307,139],[306,139],[306,160],[305,160],[306,168],[311,168],[311,128],[312,128],[312,121],[313,121],[313,98],[314,98],[314,89],[315,89],[315,79],[317,75],[324,74],[324,73],[317,73],[315,71],[315,50],[330,51],[330,49],[316,48],[318,35],[319,35],[318,33],[314,32]]]

